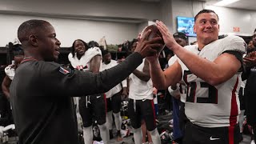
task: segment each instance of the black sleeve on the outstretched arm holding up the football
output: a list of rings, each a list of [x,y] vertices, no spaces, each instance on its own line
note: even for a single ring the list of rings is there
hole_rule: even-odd
[[[70,70],[54,62],[42,62],[39,69],[40,83],[50,95],[79,97],[99,94],[110,90],[132,73],[142,63],[138,53],[130,54],[118,66],[98,74],[81,70]]]

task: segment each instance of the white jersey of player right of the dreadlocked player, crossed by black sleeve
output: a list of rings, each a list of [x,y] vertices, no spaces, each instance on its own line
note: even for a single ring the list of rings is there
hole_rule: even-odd
[[[111,60],[110,63],[105,64],[104,62],[102,63],[102,70],[107,70],[110,69],[111,67],[117,66],[118,62]],[[126,79],[122,81],[122,85],[119,83],[117,86],[114,86],[111,90],[107,91],[106,94],[106,98],[110,98],[112,97],[114,94],[117,94],[119,91],[122,90],[122,87],[127,87],[127,82]]]

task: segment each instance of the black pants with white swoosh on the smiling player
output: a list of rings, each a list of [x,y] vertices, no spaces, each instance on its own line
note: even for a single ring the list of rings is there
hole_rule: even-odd
[[[239,125],[226,127],[202,127],[186,122],[185,144],[238,144]]]

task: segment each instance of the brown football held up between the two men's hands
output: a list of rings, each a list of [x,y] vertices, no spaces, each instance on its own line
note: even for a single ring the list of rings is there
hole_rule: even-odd
[[[150,39],[156,38],[156,37],[162,38],[162,34],[158,30],[158,26],[155,26],[155,25],[146,26],[145,29],[142,31],[142,37],[144,36],[144,34],[146,33],[147,30],[151,30],[150,35],[148,36],[147,40],[150,40]],[[163,39],[161,40],[161,43],[163,45],[165,44],[165,42],[163,42]]]

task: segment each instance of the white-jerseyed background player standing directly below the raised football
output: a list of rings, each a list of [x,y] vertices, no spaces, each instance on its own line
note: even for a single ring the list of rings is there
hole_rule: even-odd
[[[131,51],[134,50],[134,47],[136,46],[133,46]],[[128,114],[134,130],[135,144],[142,143],[142,119],[146,123],[146,129],[151,134],[152,142],[154,144],[161,143],[155,121],[153,84],[150,79],[149,63],[146,59],[129,76]]]

